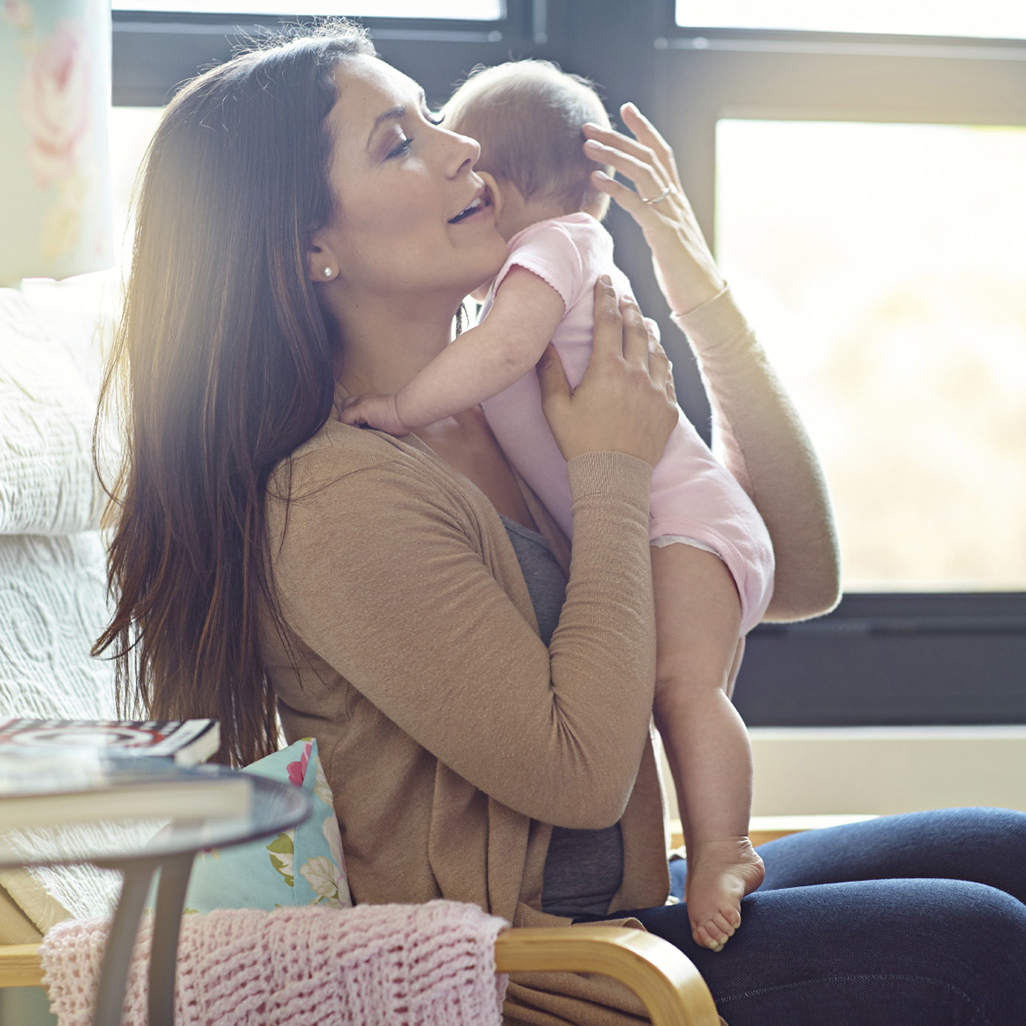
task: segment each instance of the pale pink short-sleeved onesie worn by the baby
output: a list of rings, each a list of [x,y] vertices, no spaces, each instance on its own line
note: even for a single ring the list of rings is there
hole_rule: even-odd
[[[590,214],[570,213],[528,226],[510,239],[509,250],[482,317],[510,268],[537,274],[566,307],[552,342],[575,387],[591,356],[596,279],[608,274],[618,295],[633,294],[613,263],[613,237]],[[566,464],[542,412],[538,376],[530,370],[482,405],[506,456],[569,536]],[[648,537],[655,542],[667,536],[697,543],[723,560],[741,597],[742,634],[762,619],[773,594],[770,535],[752,501],[680,411],[652,478]]]

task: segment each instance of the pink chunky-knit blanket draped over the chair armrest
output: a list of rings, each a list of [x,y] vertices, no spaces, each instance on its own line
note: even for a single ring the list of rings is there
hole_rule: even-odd
[[[500,1026],[507,923],[476,905],[225,909],[182,920],[175,1026]],[[69,919],[43,940],[60,1026],[89,1026],[109,919]],[[132,955],[122,1026],[146,1026],[152,916]]]

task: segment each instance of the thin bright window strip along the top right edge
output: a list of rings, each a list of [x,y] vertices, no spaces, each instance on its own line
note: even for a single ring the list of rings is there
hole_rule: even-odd
[[[1026,4],[1018,0],[676,0],[676,21],[689,28],[1026,38]]]

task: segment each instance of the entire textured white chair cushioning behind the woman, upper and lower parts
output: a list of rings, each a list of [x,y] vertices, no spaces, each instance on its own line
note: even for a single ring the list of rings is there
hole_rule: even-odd
[[[0,289],[0,719],[114,718],[113,669],[89,655],[109,619],[89,336]],[[0,873],[41,931],[109,910],[117,882],[86,866]]]

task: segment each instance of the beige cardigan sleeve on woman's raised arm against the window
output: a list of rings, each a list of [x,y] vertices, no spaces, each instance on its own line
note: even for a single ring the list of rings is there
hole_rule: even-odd
[[[773,541],[776,580],[765,619],[829,611],[840,587],[833,513],[790,397],[727,289],[672,320],[702,368],[717,455],[751,496]]]

